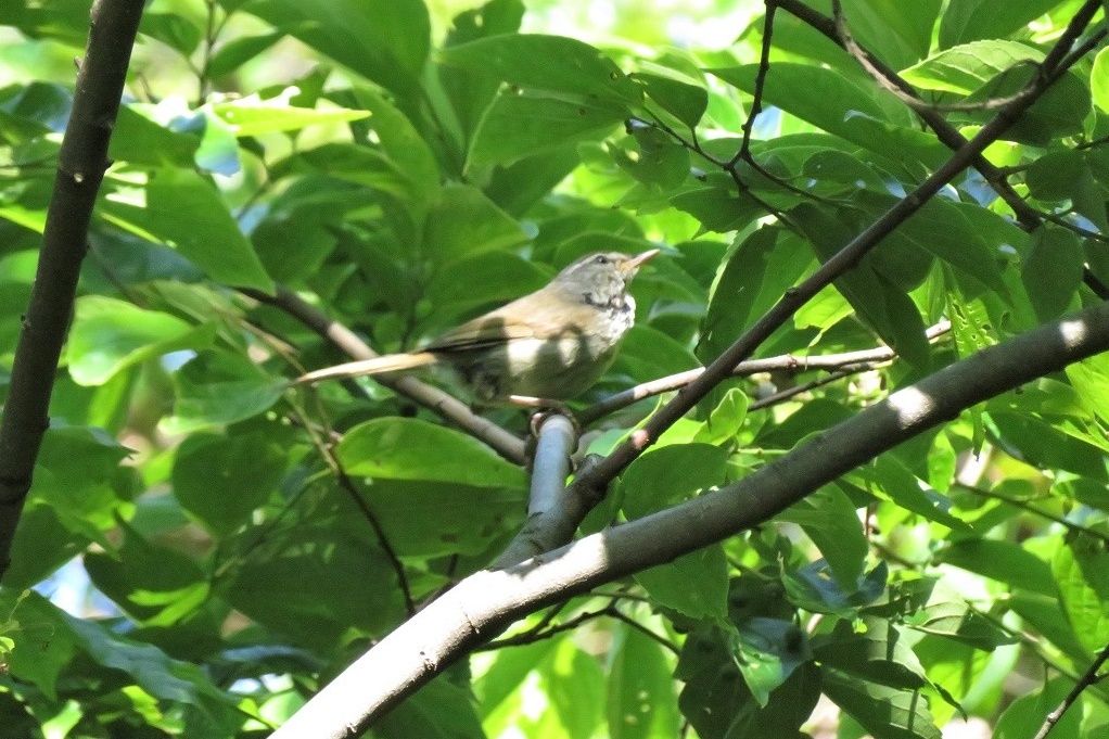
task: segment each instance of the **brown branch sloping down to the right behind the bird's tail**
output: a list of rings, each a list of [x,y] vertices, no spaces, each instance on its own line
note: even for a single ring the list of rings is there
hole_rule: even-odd
[[[287,287],[278,285],[274,295],[245,288],[240,292],[260,303],[273,305],[284,311],[329,341],[335,347],[347,354],[347,356],[355,360],[370,360],[377,356],[377,353],[366,342],[362,341],[356,333],[339,322],[333,321],[315,306],[304,302]],[[409,376],[377,376],[374,379],[454,423],[467,434],[488,444],[509,462],[522,465],[527,459],[523,439],[505,431],[491,421],[477,415],[465,403],[438,387],[433,387]]]

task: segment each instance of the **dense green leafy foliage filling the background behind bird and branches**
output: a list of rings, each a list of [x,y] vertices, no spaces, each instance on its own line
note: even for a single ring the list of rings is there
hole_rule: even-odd
[[[0,398],[87,4],[0,9]],[[1017,90],[1081,3],[843,4],[863,47],[946,105]],[[343,357],[244,290],[286,285],[389,352],[582,253],[665,244],[587,404],[711,361],[949,155],[780,9],[734,158],[762,7],[698,7],[150,3],[0,591],[11,736],[265,733],[517,530],[522,469],[370,382],[286,391]],[[973,134],[991,112],[944,115]],[[732,381],[583,529],[742,477],[1096,300],[1107,136],[1102,51],[986,152],[1042,223],[960,175],[760,351],[885,343],[895,362],[759,408],[818,375]],[[594,424],[590,449],[653,404]],[[772,525],[537,615],[373,735],[938,738],[975,717],[1030,737],[1109,642],[1106,408],[1098,357],[970,409]],[[822,696],[838,711],[813,715]],[[1088,690],[1052,736],[1109,736],[1107,698]]]

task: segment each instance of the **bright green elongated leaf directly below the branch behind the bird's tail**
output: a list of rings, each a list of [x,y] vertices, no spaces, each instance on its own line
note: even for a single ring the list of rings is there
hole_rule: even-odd
[[[523,470],[471,436],[417,418],[375,418],[348,431],[336,454],[350,475],[520,487]]]

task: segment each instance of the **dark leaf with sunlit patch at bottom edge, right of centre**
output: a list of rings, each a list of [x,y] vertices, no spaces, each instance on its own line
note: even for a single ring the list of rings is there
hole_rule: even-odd
[[[875,739],[940,739],[918,691],[898,690],[825,669],[822,689]]]

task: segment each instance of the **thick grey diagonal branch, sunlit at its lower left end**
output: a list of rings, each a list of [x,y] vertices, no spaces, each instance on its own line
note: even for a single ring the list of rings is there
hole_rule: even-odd
[[[513,620],[763,524],[964,409],[1107,350],[1109,304],[1102,303],[949,365],[743,480],[519,565],[477,573],[383,639],[273,736],[355,737]]]

